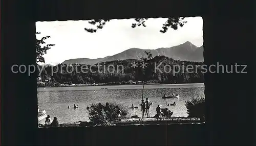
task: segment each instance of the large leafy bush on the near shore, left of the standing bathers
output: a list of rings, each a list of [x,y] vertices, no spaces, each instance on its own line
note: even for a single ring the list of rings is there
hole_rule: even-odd
[[[121,110],[121,117],[117,117],[118,109]],[[92,105],[89,111],[89,119],[98,126],[110,126],[111,121],[125,119],[129,116],[126,107],[115,103],[109,103],[109,108],[102,105]]]

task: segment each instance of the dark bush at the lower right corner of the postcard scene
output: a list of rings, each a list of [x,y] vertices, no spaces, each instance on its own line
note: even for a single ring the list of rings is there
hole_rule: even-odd
[[[205,116],[205,99],[193,98],[190,101],[186,101],[188,117],[204,117]]]

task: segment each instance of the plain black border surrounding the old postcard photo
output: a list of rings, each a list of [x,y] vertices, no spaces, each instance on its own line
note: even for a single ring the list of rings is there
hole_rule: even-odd
[[[1,143],[208,145],[255,142],[252,7],[247,1],[1,1]],[[216,61],[247,64],[247,75],[205,74],[205,124],[37,128],[36,74],[29,77],[11,72],[13,64],[35,63],[36,21],[168,16],[203,17],[205,64]],[[235,22],[236,25],[232,25]],[[243,52],[239,51],[242,47]]]

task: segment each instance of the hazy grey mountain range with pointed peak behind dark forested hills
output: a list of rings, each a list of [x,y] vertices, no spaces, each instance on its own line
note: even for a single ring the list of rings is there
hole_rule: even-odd
[[[126,59],[141,59],[142,57],[146,57],[144,51],[150,51],[152,56],[166,56],[173,58],[175,60],[182,61],[194,61],[194,62],[203,62],[203,45],[198,47],[193,43],[186,41],[183,44],[165,47],[165,48],[157,48],[156,50],[143,50],[141,48],[130,48],[121,53],[115,54],[113,56],[106,56],[104,58],[90,59],[90,58],[76,58],[65,60],[61,64],[97,64],[101,62],[108,62],[114,60],[126,60]]]

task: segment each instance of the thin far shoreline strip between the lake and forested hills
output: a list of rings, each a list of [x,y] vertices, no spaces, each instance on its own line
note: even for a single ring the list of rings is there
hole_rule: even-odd
[[[79,85],[79,84],[75,84],[75,85],[62,85],[62,86],[47,86],[47,87],[38,87],[38,88],[51,88],[51,87],[91,87],[91,86],[119,86],[119,85],[143,85],[143,84],[113,84],[113,85],[105,85],[106,83],[102,83],[101,85]],[[204,83],[148,83],[145,85],[184,85],[184,84],[204,84]]]

